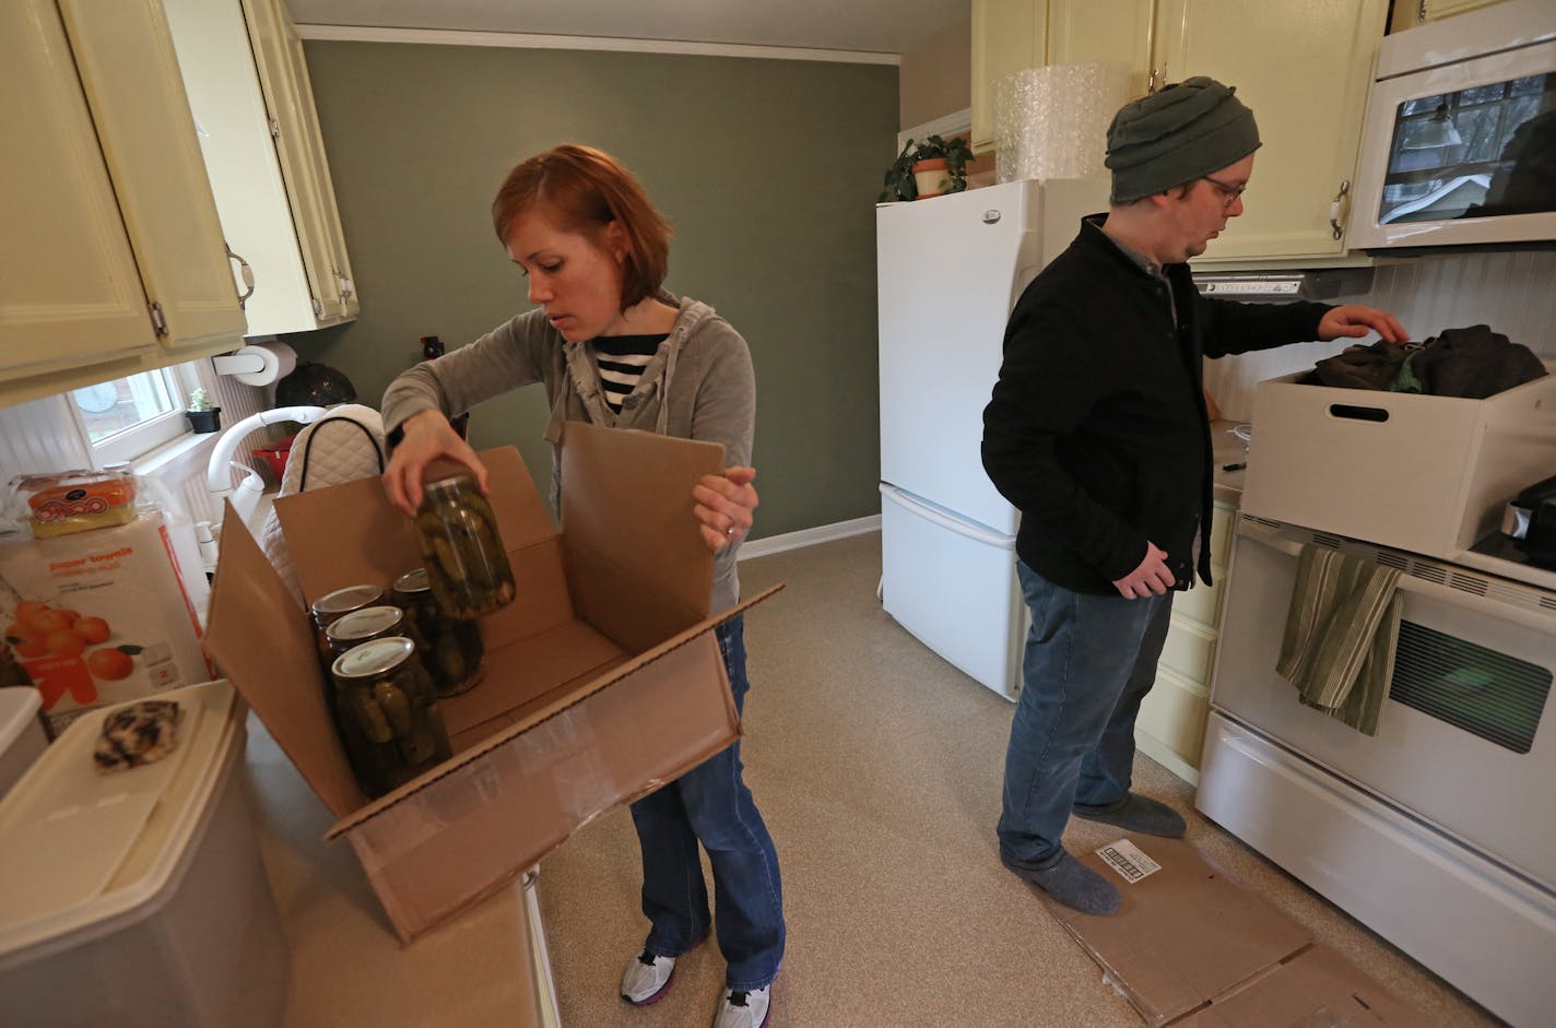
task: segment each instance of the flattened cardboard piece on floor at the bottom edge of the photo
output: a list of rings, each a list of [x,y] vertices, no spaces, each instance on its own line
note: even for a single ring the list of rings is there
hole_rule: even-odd
[[[1327,946],[1313,946],[1173,1028],[1428,1028]]]

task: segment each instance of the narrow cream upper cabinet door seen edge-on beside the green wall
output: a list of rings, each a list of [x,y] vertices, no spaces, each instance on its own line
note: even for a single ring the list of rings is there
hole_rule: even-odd
[[[265,104],[271,115],[275,154],[286,184],[297,246],[308,274],[317,327],[345,319],[345,305],[331,272],[330,232],[325,204],[310,154],[308,120],[313,98],[305,96],[293,72],[291,23],[280,9],[280,0],[243,0],[254,44],[254,64],[260,72]],[[308,114],[303,114],[307,106]]]

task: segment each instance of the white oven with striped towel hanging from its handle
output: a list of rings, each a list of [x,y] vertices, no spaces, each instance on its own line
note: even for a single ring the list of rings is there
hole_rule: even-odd
[[[1399,568],[1376,737],[1274,672],[1302,546]],[[1197,806],[1512,1025],[1556,1012],[1556,593],[1243,515]]]

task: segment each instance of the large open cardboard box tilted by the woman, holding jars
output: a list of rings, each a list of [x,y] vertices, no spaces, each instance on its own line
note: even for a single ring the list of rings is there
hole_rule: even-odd
[[[518,451],[481,454],[518,599],[481,624],[485,680],[443,700],[454,757],[369,801],[330,725],[308,616],[229,512],[205,644],[339,821],[405,941],[503,888],[599,813],[739,736],[706,617],[713,557],[692,484],[724,448],[566,426],[557,532]],[[422,563],[367,479],[275,504],[310,602]]]

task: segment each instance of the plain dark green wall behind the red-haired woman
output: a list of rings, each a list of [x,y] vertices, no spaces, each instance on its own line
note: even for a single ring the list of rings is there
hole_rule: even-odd
[[[626,163],[675,226],[666,288],[719,309],[756,364],[753,537],[878,513],[874,198],[895,67],[641,53],[308,42],[361,317],[288,336],[363,403],[526,309],[489,207],[563,142]],[[549,476],[538,387],[479,406],[478,446]],[[541,490],[543,491],[543,490]]]

